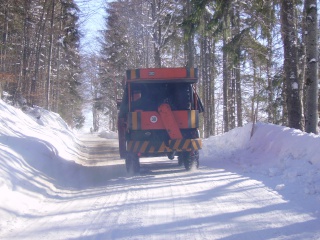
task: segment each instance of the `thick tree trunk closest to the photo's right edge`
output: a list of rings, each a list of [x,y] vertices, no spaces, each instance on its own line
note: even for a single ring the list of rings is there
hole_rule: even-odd
[[[306,132],[318,133],[317,1],[306,0]]]

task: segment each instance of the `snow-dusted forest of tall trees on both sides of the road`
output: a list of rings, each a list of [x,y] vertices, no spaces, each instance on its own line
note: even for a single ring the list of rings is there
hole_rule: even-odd
[[[86,1],[86,0],[82,0]],[[248,122],[318,133],[317,0],[106,1],[98,52],[77,1],[1,0],[0,93],[81,127],[117,130],[127,69],[197,67],[203,137]]]

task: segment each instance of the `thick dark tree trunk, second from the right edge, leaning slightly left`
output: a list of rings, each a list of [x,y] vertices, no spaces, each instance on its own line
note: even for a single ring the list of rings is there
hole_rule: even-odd
[[[297,29],[294,23],[294,8],[294,0],[282,0],[281,30],[284,45],[284,72],[287,83],[288,124],[291,128],[301,129],[300,83],[296,46]]]

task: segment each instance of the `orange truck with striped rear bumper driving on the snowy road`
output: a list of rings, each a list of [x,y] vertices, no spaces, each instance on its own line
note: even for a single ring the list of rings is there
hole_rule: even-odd
[[[126,71],[118,100],[118,137],[128,173],[140,173],[141,157],[177,157],[186,170],[199,167],[199,114],[204,107],[197,82],[197,68]]]

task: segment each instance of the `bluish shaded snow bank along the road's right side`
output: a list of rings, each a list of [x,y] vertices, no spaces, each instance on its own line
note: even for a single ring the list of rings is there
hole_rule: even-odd
[[[282,190],[301,184],[307,194],[320,194],[320,136],[272,124],[252,124],[204,140],[204,164],[232,164],[243,173],[280,177]]]

